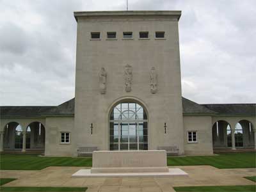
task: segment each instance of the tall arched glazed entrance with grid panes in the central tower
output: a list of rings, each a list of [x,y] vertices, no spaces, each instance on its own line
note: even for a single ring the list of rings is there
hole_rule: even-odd
[[[109,150],[148,150],[148,118],[136,102],[120,102],[109,119]]]

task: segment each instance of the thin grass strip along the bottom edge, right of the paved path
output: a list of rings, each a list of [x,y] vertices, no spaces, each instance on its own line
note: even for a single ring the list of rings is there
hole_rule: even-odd
[[[177,192],[255,192],[256,186],[200,186],[200,187],[176,187]]]

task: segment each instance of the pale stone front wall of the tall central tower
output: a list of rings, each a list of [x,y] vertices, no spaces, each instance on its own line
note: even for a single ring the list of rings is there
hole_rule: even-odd
[[[77,143],[74,148],[93,145],[100,150],[108,150],[109,113],[115,104],[126,100],[139,102],[148,113],[148,149],[157,149],[159,145],[178,145],[180,154],[183,154],[180,12],[120,14],[116,16],[115,12],[110,12],[92,16],[94,13],[75,13],[76,131],[73,137]],[[91,38],[93,31],[100,32],[99,39]],[[116,40],[108,40],[108,31],[116,31]],[[132,38],[125,39],[124,31],[131,31]],[[140,31],[148,31],[148,39],[140,39]],[[164,31],[165,38],[156,39],[156,31]],[[149,86],[149,72],[153,66],[158,73],[158,92],[154,95],[150,93]],[[104,95],[98,88],[98,72],[102,67],[108,71],[108,88]],[[166,133],[164,123],[167,125]],[[91,124],[93,134],[90,134]]]

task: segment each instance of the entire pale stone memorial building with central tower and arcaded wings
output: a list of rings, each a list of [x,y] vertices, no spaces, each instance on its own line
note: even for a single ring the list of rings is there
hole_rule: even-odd
[[[182,97],[180,15],[75,12],[76,97],[59,106],[1,106],[0,151],[255,150],[256,104],[197,104]]]

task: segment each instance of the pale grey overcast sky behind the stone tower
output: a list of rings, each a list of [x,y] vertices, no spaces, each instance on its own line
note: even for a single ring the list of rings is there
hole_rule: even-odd
[[[58,105],[74,97],[74,11],[126,1],[0,0],[0,105]],[[129,10],[182,10],[182,95],[198,103],[256,102],[256,1],[129,0]]]

